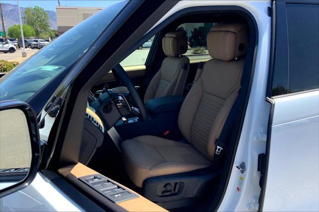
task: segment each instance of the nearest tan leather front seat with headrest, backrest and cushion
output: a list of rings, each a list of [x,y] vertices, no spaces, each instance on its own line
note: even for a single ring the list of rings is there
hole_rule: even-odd
[[[188,144],[147,135],[122,142],[125,168],[135,185],[142,187],[149,177],[210,166],[214,142],[240,89],[244,59],[239,57],[246,53],[247,42],[243,23],[220,23],[210,29],[207,46],[213,59],[203,67],[178,117]]]

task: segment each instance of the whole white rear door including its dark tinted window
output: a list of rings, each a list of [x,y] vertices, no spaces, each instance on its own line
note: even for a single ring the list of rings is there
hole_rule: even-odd
[[[319,211],[319,5],[274,1],[260,211]]]

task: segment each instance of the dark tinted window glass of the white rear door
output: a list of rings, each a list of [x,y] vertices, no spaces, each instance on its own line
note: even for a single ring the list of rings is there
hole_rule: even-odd
[[[278,2],[272,96],[319,88],[319,5]]]

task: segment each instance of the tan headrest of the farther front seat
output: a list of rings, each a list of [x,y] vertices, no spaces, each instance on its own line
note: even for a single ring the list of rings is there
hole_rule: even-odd
[[[166,56],[177,57],[187,51],[187,37],[184,30],[167,32],[162,41]]]

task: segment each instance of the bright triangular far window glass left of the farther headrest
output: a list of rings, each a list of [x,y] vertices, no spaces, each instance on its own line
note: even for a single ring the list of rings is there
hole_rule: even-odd
[[[120,65],[123,67],[145,65],[154,37],[155,35],[139,46],[139,48],[127,56]]]

